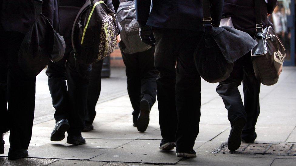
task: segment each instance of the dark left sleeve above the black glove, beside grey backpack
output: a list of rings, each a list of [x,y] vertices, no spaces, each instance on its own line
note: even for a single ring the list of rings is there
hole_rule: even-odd
[[[151,0],[136,0],[135,7],[137,21],[139,21],[139,24],[146,25],[146,22],[150,14],[150,6]]]

